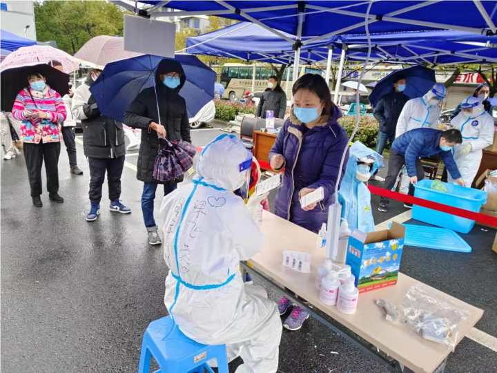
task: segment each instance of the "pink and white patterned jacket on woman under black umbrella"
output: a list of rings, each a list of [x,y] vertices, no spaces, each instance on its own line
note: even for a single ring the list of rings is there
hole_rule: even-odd
[[[28,112],[43,111],[48,119],[30,119]],[[14,101],[12,116],[21,121],[21,140],[32,144],[60,142],[61,124],[66,119],[66,106],[61,95],[46,86],[39,92],[30,88],[21,90]]]

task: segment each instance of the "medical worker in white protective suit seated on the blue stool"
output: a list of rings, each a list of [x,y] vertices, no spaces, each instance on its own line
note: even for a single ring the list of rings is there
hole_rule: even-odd
[[[170,269],[164,303],[186,336],[226,344],[236,372],[277,371],[282,323],[262,287],[246,285],[240,260],[264,236],[233,193],[244,184],[252,155],[235,135],[220,135],[197,158],[197,177],[162,202],[164,259]]]

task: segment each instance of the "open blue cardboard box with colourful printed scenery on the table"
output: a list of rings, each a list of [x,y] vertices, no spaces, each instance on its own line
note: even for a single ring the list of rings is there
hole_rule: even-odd
[[[347,264],[355,276],[359,292],[396,285],[405,227],[393,222],[391,229],[364,233],[355,230],[349,237]]]

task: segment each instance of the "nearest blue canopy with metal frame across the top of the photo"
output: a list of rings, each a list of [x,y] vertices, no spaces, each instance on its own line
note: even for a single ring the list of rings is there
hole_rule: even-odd
[[[137,10],[137,7],[130,3],[115,1],[143,16],[217,15],[250,21],[292,43],[295,61],[300,60],[302,46],[313,45],[334,35],[436,29],[459,30],[477,35],[495,35],[497,32],[496,1],[142,0],[139,2],[149,7]],[[163,6],[179,11],[164,12]],[[330,16],[333,16],[333,21]],[[295,35],[295,39],[289,38],[288,34]],[[303,39],[304,37],[309,39]],[[297,71],[294,69],[294,79],[296,75]]]

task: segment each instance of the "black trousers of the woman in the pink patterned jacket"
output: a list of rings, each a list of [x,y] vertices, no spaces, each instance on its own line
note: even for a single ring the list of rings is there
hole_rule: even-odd
[[[59,191],[59,155],[60,142],[47,144],[23,144],[24,159],[28,169],[28,178],[31,187],[31,196],[41,195],[41,165],[45,160],[48,193]]]

